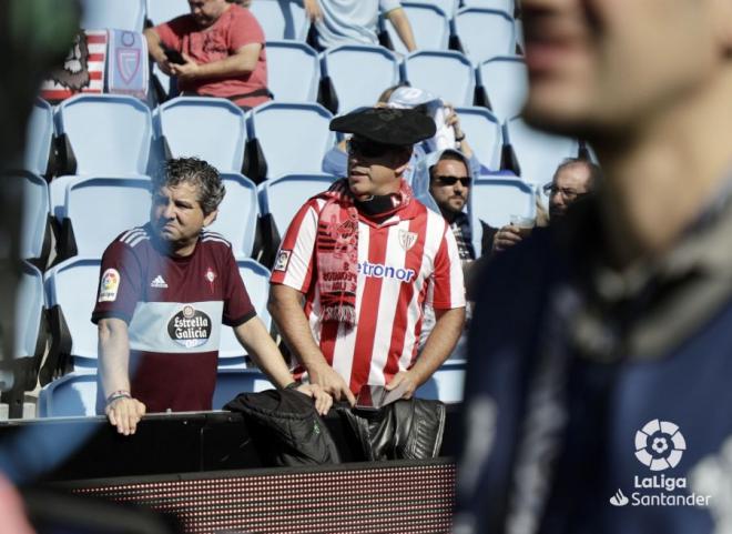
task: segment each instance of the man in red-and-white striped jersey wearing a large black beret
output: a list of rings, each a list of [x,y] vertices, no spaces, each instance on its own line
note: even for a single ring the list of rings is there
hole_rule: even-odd
[[[447,359],[465,320],[455,236],[403,180],[413,144],[433,137],[435,123],[413,110],[367,109],[331,129],[353,133],[348,177],[295,215],[270,311],[299,360],[296,375],[352,404],[366,384],[401,386],[410,397]],[[417,357],[425,304],[437,323]]]

